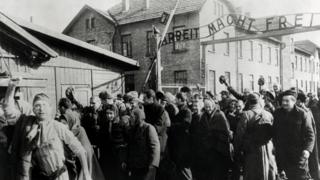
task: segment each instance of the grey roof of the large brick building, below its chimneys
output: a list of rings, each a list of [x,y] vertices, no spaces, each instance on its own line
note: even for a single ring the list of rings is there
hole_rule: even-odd
[[[132,0],[130,0],[132,1]],[[138,0],[137,2],[143,2],[144,0]],[[234,8],[228,0],[223,1],[231,12],[234,12]],[[119,3],[107,12],[118,22],[118,24],[128,24],[139,21],[145,21],[149,19],[155,19],[161,17],[163,12],[170,13],[175,7],[176,0],[150,0],[150,7],[144,8],[141,3],[130,3],[128,11],[123,11],[122,3]],[[190,13],[201,9],[206,0],[182,0],[176,10],[177,14]]]

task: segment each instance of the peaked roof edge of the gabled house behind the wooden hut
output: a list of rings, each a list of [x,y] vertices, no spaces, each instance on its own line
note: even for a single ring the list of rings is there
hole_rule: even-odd
[[[113,24],[117,24],[116,21],[111,17],[111,15],[108,12],[99,10],[99,9],[94,9],[89,5],[84,5],[81,10],[78,12],[78,14],[71,20],[71,22],[68,24],[68,26],[62,31],[63,34],[67,34],[67,32],[70,30],[70,28],[78,21],[80,16],[82,15],[83,12],[86,10],[90,11],[95,11],[96,13],[100,14],[103,18],[106,20],[110,21]]]

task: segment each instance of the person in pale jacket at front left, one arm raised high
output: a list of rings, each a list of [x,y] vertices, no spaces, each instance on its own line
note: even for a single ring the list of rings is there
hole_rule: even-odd
[[[9,87],[14,89],[17,84],[10,81]],[[40,93],[34,97],[35,115],[26,116],[17,112],[13,98],[5,102],[6,116],[18,120],[9,149],[15,167],[14,179],[69,180],[64,145],[79,159],[83,179],[92,179],[85,149],[65,125],[53,119],[50,99],[46,94]]]

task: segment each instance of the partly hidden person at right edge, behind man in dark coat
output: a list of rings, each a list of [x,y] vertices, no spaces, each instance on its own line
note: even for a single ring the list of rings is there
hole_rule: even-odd
[[[313,131],[315,132],[315,139],[316,139],[314,143],[313,151],[310,154],[310,158],[309,158],[310,175],[314,180],[320,180],[317,128],[316,128],[316,124],[315,124],[312,112],[309,108],[307,108],[306,102],[307,102],[307,96],[303,92],[299,92],[297,97],[297,106],[305,110],[308,113],[308,115],[311,117],[312,127],[313,127]]]

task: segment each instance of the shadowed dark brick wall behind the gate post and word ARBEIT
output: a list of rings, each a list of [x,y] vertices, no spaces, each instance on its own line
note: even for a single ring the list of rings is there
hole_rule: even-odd
[[[169,27],[168,33],[173,32],[175,27],[184,29],[195,28],[199,26],[197,13],[188,13],[176,15]],[[114,40],[115,52],[121,52],[121,35],[130,34],[132,37],[132,58],[140,63],[140,70],[134,73],[136,89],[140,90],[143,86],[144,78],[149,70],[151,60],[147,55],[147,32],[152,30],[152,25],[155,25],[160,32],[163,32],[165,25],[159,23],[159,19],[142,21],[119,27],[119,36]],[[174,44],[167,44],[161,48],[162,62],[162,83],[166,85],[175,85],[174,72],[180,70],[187,71],[188,85],[199,83],[200,79],[200,44],[199,40],[190,40],[179,42],[183,43],[185,49],[182,51],[174,50]],[[182,85],[182,84],[181,84]]]

